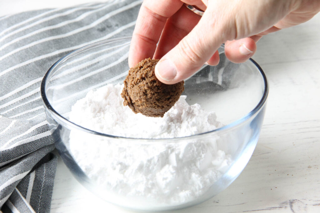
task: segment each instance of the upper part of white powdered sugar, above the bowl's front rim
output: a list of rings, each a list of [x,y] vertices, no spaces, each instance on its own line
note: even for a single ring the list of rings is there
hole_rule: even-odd
[[[88,92],[72,107],[70,120],[87,129],[130,138],[184,137],[222,126],[214,112],[205,112],[198,104],[189,106],[186,96],[181,96],[163,118],[134,114],[122,104],[122,88],[108,84]]]

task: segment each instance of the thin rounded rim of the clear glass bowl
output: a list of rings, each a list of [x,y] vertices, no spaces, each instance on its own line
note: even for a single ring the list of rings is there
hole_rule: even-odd
[[[184,137],[177,137],[177,138],[130,138],[130,137],[123,137],[123,136],[115,136],[115,135],[110,135],[110,134],[105,134],[105,133],[101,133],[98,131],[94,131],[94,130],[90,130],[87,128],[84,128],[74,122],[69,121],[67,118],[65,118],[64,116],[62,116],[61,114],[59,114],[50,104],[49,100],[46,97],[46,93],[45,93],[45,83],[48,79],[48,76],[50,75],[50,73],[52,72],[52,70],[64,59],[70,58],[73,55],[76,55],[80,52],[86,51],[86,50],[90,50],[94,47],[100,46],[100,45],[104,45],[107,43],[111,43],[114,41],[119,41],[119,40],[124,40],[124,39],[131,39],[132,36],[131,35],[127,35],[127,36],[119,36],[119,37],[114,37],[114,38],[109,38],[109,39],[105,39],[105,40],[101,40],[95,43],[91,43],[88,44],[84,47],[81,47],[79,49],[76,49],[74,51],[71,51],[70,53],[68,53],[67,55],[63,56],[62,58],[60,58],[58,61],[56,61],[44,74],[44,77],[41,81],[41,86],[40,86],[40,92],[41,92],[41,98],[43,100],[44,103],[44,108],[49,111],[54,117],[55,119],[58,119],[61,123],[64,123],[66,126],[73,128],[73,129],[78,129],[78,130],[82,130],[88,133],[92,133],[95,135],[100,135],[100,136],[104,136],[104,137],[108,137],[108,138],[122,138],[122,139],[129,139],[129,140],[146,140],[146,141],[167,141],[167,140],[176,140],[176,139],[181,139],[181,138],[193,138],[193,137],[199,137],[199,136],[205,136],[211,133],[221,133],[221,132],[225,132],[225,131],[229,131],[231,129],[234,129],[236,126],[250,120],[250,118],[252,118],[255,114],[257,114],[262,107],[265,105],[267,97],[268,97],[268,92],[269,92],[269,84],[268,84],[268,79],[267,76],[265,75],[265,73],[263,72],[262,68],[260,67],[260,65],[253,60],[252,58],[250,58],[248,61],[250,61],[256,68],[258,68],[260,74],[262,75],[263,81],[264,81],[264,92],[263,95],[259,101],[259,103],[247,114],[245,114],[243,117],[237,119],[236,121],[233,121],[231,123],[228,123],[227,125],[217,128],[215,130],[211,130],[211,131],[207,131],[207,132],[203,132],[203,133],[198,133],[195,135],[190,135],[190,136],[184,136]],[[224,48],[224,44],[221,44],[221,47]]]

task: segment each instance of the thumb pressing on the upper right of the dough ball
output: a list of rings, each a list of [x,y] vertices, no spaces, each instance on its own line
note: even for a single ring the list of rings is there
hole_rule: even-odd
[[[165,84],[178,83],[193,75],[209,59],[210,64],[219,62],[219,57],[213,57],[216,59],[215,63],[212,56],[223,41],[217,29],[208,29],[212,17],[207,16],[209,17],[204,12],[192,31],[159,60],[155,67],[155,75],[159,81]]]

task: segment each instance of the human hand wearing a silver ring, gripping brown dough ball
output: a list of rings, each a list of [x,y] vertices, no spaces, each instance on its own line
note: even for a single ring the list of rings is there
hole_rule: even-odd
[[[196,5],[203,16],[183,3]],[[227,58],[241,63],[252,57],[263,35],[303,23],[319,11],[319,0],[145,0],[132,35],[129,66],[161,58],[156,77],[174,84],[204,63],[217,65],[221,43]]]

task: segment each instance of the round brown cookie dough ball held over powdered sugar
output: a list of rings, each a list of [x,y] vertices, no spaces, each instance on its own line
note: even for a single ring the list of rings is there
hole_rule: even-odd
[[[159,59],[144,59],[129,70],[121,93],[124,106],[148,117],[163,117],[184,90],[183,81],[164,84],[155,75]]]

